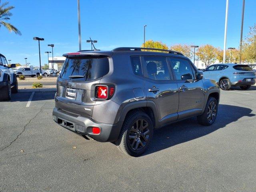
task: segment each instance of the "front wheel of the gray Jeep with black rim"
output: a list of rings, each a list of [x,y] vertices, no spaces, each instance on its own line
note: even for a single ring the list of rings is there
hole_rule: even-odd
[[[198,123],[204,126],[212,125],[216,120],[217,113],[218,102],[215,98],[209,97],[204,109],[204,113],[202,115],[197,116]]]

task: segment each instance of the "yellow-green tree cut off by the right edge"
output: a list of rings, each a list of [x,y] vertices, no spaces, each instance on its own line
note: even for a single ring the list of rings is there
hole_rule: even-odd
[[[247,63],[256,63],[256,24],[250,27],[250,32],[244,41],[242,56]]]

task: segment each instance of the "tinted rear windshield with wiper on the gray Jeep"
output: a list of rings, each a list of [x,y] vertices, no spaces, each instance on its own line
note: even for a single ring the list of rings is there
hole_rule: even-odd
[[[69,76],[84,76],[75,78],[78,81],[90,81],[100,78],[109,72],[109,62],[106,57],[76,57],[66,58],[62,67],[61,78]]]

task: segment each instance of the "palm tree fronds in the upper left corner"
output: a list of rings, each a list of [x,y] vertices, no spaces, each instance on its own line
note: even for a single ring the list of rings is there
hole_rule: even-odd
[[[4,2],[1,4],[0,0],[0,28],[1,26],[5,26],[10,32],[14,32],[18,35],[21,35],[21,32],[14,27],[12,24],[6,22],[10,20],[10,16],[12,16],[12,13],[10,13],[10,10],[14,8],[14,6],[7,6],[9,2]]]

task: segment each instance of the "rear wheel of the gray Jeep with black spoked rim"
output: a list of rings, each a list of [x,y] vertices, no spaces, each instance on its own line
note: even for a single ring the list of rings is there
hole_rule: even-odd
[[[144,125],[144,128],[140,125]],[[125,154],[139,156],[147,150],[153,137],[153,130],[153,123],[146,113],[131,112],[124,120],[116,145]]]

